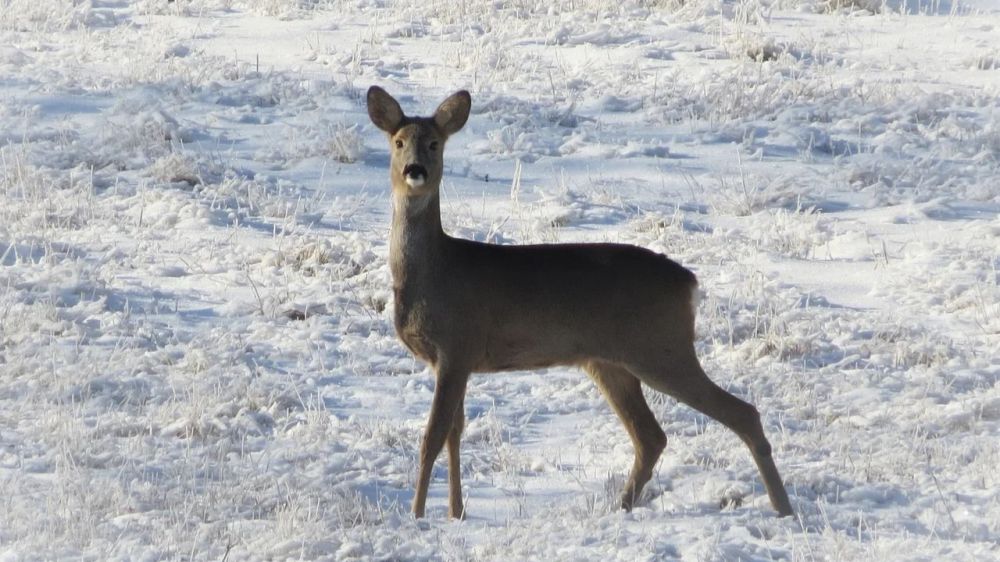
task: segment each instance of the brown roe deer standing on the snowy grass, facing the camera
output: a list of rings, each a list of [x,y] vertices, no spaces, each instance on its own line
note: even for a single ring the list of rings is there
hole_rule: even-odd
[[[459,444],[472,373],[582,368],[620,418],[635,460],[630,511],[666,447],[642,385],[719,421],[749,447],[778,516],[792,514],[760,414],[705,374],[695,353],[698,281],[662,254],[612,243],[499,245],[441,225],[446,141],[469,118],[458,91],[430,117],[407,116],[378,86],[368,116],[389,139],[396,334],[435,375],[412,512],[425,515],[434,462],[448,449],[448,515],[463,519]]]

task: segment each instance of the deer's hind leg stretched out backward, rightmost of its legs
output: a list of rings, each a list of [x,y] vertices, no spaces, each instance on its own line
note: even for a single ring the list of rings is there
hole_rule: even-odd
[[[652,388],[673,396],[733,430],[750,448],[771,505],[784,517],[792,514],[788,493],[771,457],[771,444],[764,436],[757,408],[726,392],[705,374],[694,348],[670,356],[672,369],[635,369],[633,372]]]

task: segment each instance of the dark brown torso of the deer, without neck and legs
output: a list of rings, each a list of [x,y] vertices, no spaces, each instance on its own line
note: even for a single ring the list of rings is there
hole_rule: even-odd
[[[668,348],[671,339],[649,326],[691,316],[694,276],[641,248],[497,246],[447,235],[438,244],[434,272],[395,287],[397,333],[432,365],[439,349],[467,350],[461,360],[471,372],[624,362],[642,339]],[[630,277],[650,271],[659,290],[637,294]],[[595,298],[603,301],[596,309]],[[672,328],[681,335],[693,324]]]

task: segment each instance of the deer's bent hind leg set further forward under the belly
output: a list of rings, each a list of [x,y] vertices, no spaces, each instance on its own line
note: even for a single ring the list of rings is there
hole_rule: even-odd
[[[622,420],[635,447],[635,462],[622,491],[621,503],[622,509],[631,511],[643,486],[653,475],[656,461],[667,445],[667,436],[646,404],[639,379],[632,373],[601,362],[587,364],[586,371]]]

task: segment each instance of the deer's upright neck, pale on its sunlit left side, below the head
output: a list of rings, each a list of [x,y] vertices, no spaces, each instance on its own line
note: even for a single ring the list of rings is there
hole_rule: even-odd
[[[447,241],[436,191],[410,197],[405,190],[393,190],[389,263],[397,289],[429,279],[443,257]]]

